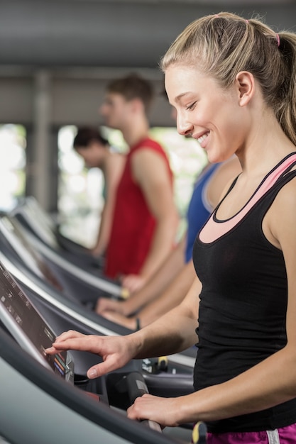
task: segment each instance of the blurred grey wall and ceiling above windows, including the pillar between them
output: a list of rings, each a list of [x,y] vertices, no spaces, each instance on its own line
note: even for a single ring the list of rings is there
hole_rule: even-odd
[[[160,57],[194,18],[221,10],[296,30],[295,0],[0,0],[0,123],[28,128],[28,193],[53,208],[57,128],[102,123],[111,78],[150,79],[151,124],[171,126]]]

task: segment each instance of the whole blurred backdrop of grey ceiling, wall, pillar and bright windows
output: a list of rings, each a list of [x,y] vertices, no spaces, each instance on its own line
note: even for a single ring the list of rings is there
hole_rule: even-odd
[[[102,128],[106,83],[138,72],[155,86],[151,132],[170,157],[185,218],[206,158],[177,134],[158,62],[188,23],[219,11],[296,30],[295,0],[0,0],[0,211],[35,196],[65,235],[92,245],[102,172],[84,169],[72,141],[77,126]],[[120,133],[103,131],[126,149]]]

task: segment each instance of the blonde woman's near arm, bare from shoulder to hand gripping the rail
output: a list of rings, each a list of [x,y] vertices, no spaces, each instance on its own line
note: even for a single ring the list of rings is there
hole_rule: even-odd
[[[287,345],[223,384],[178,399],[156,398],[156,401],[145,396],[146,399],[136,401],[129,410],[131,418],[157,418],[160,423],[171,426],[185,421],[215,421],[268,409],[296,397],[296,183],[287,184],[284,189],[265,216],[263,231],[275,247],[283,250],[285,257]]]

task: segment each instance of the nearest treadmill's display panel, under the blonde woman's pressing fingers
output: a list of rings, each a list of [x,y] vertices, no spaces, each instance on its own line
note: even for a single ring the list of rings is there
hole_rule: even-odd
[[[55,334],[0,262],[0,319],[16,341],[63,379],[72,379],[67,352],[47,355]]]

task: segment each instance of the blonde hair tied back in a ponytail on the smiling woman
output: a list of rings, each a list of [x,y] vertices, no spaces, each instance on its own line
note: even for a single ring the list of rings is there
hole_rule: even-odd
[[[197,67],[225,89],[238,72],[251,72],[265,103],[296,144],[295,33],[275,33],[260,18],[226,12],[205,16],[190,23],[160,60],[163,72],[171,65]]]

